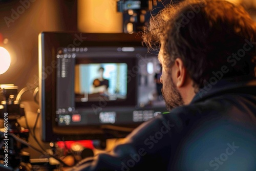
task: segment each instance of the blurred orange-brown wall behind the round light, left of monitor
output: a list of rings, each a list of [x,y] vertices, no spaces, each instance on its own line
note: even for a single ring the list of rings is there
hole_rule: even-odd
[[[77,1],[0,1],[0,33],[11,55],[11,65],[0,84],[14,83],[19,90],[37,85],[38,34],[42,31],[77,31]],[[1,61],[0,61],[1,62]],[[23,100],[32,99],[27,92]]]

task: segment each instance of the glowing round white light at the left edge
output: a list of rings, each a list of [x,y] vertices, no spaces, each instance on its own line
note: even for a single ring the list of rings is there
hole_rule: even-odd
[[[11,56],[9,52],[0,47],[0,74],[5,73],[11,65]]]

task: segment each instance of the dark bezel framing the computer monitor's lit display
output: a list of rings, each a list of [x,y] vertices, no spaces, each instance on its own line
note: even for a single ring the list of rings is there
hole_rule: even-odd
[[[79,41],[78,41],[79,40]],[[55,60],[59,47],[78,45],[81,47],[142,47],[141,37],[137,34],[124,33],[59,33],[42,32],[39,34],[39,106],[42,119],[42,141],[63,141],[81,139],[107,139],[122,138],[129,134],[126,131],[105,129],[108,125],[61,127],[55,122],[56,112],[56,66]],[[44,73],[42,69],[52,67],[50,73]],[[135,128],[141,122],[122,124],[121,126]],[[117,125],[118,126],[118,125]]]

